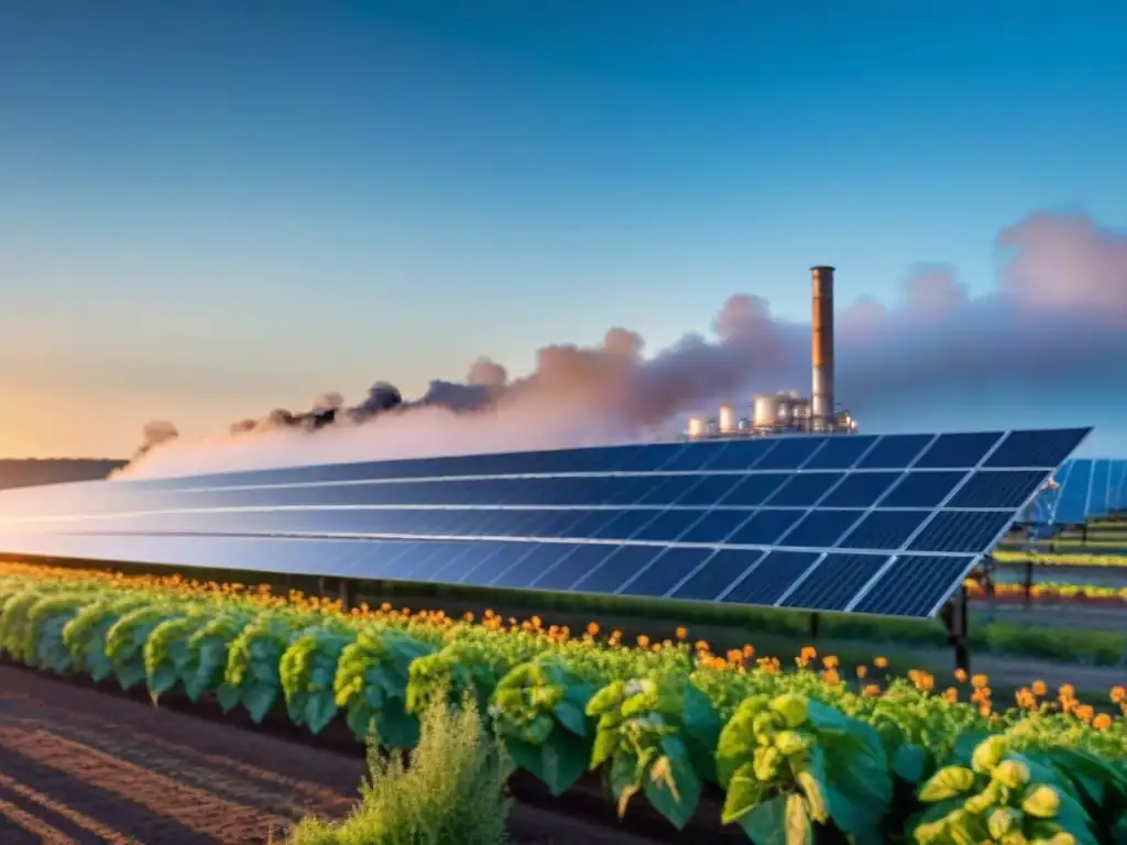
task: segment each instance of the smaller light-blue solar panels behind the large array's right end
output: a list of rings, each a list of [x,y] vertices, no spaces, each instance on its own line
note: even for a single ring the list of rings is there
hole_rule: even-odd
[[[1127,461],[1067,461],[1057,471],[1056,482],[1058,488],[1038,495],[1019,522],[1079,525],[1127,509]]]

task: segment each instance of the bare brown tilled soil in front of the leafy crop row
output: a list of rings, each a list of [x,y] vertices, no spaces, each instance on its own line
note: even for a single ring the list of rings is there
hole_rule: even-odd
[[[363,759],[0,666],[0,843],[266,843],[340,817]],[[518,845],[647,845],[517,804]]]

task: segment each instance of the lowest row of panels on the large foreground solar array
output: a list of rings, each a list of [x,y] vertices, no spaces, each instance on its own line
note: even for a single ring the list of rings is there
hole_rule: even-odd
[[[933,615],[973,555],[535,542],[33,535],[27,553],[756,605]]]

